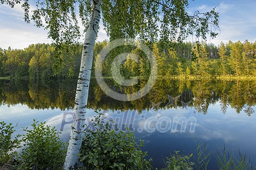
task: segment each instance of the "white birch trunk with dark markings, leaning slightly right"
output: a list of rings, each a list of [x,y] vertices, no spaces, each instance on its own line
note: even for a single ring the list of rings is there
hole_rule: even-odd
[[[98,34],[101,3],[102,0],[93,0],[91,18],[85,34],[76,90],[74,117],[63,170],[76,170],[78,167],[79,151],[82,143],[83,130],[85,128],[85,114],[91,78],[93,51]]]

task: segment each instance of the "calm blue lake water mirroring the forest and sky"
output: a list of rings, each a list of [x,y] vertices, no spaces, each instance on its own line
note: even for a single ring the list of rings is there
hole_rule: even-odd
[[[113,85],[114,86],[114,85]],[[153,166],[163,167],[170,152],[196,154],[196,138],[205,142],[212,153],[210,170],[217,169],[214,154],[222,150],[250,156],[256,165],[256,81],[158,81],[144,97],[120,102],[106,96],[92,80],[87,117],[102,109],[108,119],[121,128],[128,124],[143,151],[152,157]],[[62,131],[67,141],[72,120],[76,80],[41,82],[0,80],[0,121],[17,123],[17,134],[33,119],[46,121]],[[113,87],[132,93],[138,87]]]

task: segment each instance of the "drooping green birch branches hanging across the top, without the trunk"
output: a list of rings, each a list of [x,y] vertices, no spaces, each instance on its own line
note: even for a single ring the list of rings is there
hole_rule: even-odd
[[[14,7],[21,4],[24,20],[49,30],[56,44],[76,43],[80,37],[79,20],[87,28],[93,0],[0,0]],[[182,41],[188,34],[206,38],[217,35],[218,13],[189,15],[188,0],[103,0],[102,21],[110,39],[140,37],[149,41]],[[85,29],[86,31],[86,29]]]

